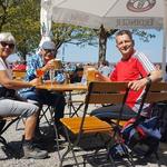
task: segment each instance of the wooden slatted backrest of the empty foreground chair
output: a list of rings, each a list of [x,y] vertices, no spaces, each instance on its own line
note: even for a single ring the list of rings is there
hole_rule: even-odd
[[[122,104],[124,106],[129,91],[127,85],[128,82],[90,82],[85,99],[85,111],[89,104]]]

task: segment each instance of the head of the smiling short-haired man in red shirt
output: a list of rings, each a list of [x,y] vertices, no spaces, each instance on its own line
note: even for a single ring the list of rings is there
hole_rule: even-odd
[[[122,55],[122,59],[127,60],[135,51],[134,39],[131,32],[128,30],[120,30],[116,35],[116,46]]]

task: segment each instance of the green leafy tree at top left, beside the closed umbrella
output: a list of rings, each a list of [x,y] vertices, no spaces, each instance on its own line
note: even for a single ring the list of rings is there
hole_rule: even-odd
[[[17,49],[24,56],[36,48],[40,40],[40,2],[6,0],[0,4],[0,30],[12,32],[17,39]]]

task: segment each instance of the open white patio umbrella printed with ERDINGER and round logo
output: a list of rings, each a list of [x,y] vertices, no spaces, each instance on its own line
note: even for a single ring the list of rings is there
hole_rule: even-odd
[[[164,29],[163,69],[166,66],[167,0],[41,0],[49,20],[106,29]],[[47,21],[49,21],[47,20]]]

